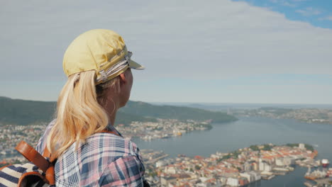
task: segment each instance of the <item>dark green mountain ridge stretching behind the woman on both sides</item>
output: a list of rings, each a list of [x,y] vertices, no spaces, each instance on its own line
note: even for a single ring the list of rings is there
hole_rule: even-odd
[[[52,120],[56,102],[26,101],[0,96],[0,125],[29,125],[36,122],[48,123]],[[128,101],[116,114],[116,124],[129,124],[131,121],[156,121],[156,118],[178,120],[214,120],[224,123],[237,118],[221,112],[205,111],[198,108],[179,106],[155,106],[140,101]]]

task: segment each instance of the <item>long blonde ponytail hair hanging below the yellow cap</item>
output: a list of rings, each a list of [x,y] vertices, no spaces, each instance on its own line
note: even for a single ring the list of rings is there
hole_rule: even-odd
[[[109,124],[106,89],[119,90],[118,77],[104,84],[95,85],[95,71],[72,74],[57,99],[56,122],[48,135],[47,146],[53,157],[59,157],[68,147],[96,132],[105,130]]]

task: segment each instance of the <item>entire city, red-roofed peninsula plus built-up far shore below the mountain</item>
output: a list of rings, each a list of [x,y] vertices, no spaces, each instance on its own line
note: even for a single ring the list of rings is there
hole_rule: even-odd
[[[0,130],[1,166],[26,162],[14,147],[25,140],[35,146],[45,130],[46,124],[28,126],[6,125]],[[157,123],[133,122],[118,125],[124,137],[138,137],[145,141],[179,136],[192,130],[211,128],[209,121],[162,120]],[[144,133],[145,132],[145,133]],[[326,165],[322,171],[317,168],[321,161],[315,160],[318,152],[310,145],[252,145],[233,152],[211,154],[211,157],[168,157],[164,152],[142,149],[145,162],[145,176],[152,186],[245,186],[260,180],[270,180],[278,175],[292,172],[296,165],[309,168],[306,179],[317,183],[328,183],[332,169]],[[312,172],[311,172],[312,168]],[[326,178],[327,177],[327,178]],[[323,181],[321,181],[323,180]],[[313,186],[306,182],[306,186]]]

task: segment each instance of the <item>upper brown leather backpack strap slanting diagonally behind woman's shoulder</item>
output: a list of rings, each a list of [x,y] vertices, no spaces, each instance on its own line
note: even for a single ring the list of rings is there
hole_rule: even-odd
[[[38,166],[38,168],[41,169],[43,172],[46,172],[48,166],[50,165],[50,162],[48,162],[47,159],[45,159],[41,154],[39,154],[39,152],[37,152],[33,147],[31,147],[31,145],[28,145],[27,142],[24,142],[22,140],[18,143],[15,149],[20,152],[24,157],[26,157],[28,161]]]

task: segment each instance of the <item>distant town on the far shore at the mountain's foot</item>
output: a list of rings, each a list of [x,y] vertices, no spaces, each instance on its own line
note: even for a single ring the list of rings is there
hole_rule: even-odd
[[[35,147],[43,135],[47,124],[35,125],[3,125],[0,129],[0,164],[19,163],[25,161],[15,147],[21,140]],[[153,139],[181,136],[193,130],[209,130],[212,128],[211,120],[175,120],[157,119],[153,122],[133,122],[130,125],[116,125],[116,129],[127,139],[138,137],[145,141]]]

